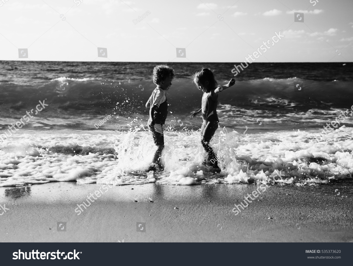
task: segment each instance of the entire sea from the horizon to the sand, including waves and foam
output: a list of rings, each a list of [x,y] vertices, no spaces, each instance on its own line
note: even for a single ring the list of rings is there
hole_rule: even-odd
[[[175,78],[166,92],[165,170],[148,173],[156,147],[145,103],[158,64],[173,67]],[[235,77],[234,65],[0,61],[0,186],[352,179],[353,63],[252,63]],[[220,174],[202,164],[202,118],[190,118],[202,98],[192,75],[203,67],[219,85],[235,79],[219,94],[220,128],[211,140]],[[21,119],[25,125],[14,127]]]

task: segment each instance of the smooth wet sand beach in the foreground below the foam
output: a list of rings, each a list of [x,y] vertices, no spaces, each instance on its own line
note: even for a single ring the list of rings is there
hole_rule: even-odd
[[[238,215],[234,203],[256,184],[113,186],[80,215],[77,204],[101,185],[0,187],[0,204],[9,209],[0,216],[0,236],[1,242],[353,242],[352,185],[276,184]],[[57,222],[66,222],[66,231]],[[137,232],[137,222],[146,223],[145,232]]]

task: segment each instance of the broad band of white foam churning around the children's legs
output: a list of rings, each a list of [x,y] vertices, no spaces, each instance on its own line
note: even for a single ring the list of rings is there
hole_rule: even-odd
[[[112,185],[271,183],[275,170],[284,175],[275,178],[276,183],[326,184],[331,179],[352,178],[353,173],[353,130],[344,126],[315,146],[310,143],[312,132],[307,131],[243,135],[217,130],[211,146],[221,175],[202,165],[205,153],[195,131],[165,132],[162,159],[166,170],[162,175],[145,172],[156,150],[149,132],[22,132],[1,145],[0,186],[68,181]],[[57,145],[72,153],[77,146],[115,147],[118,159],[99,153],[51,152]]]

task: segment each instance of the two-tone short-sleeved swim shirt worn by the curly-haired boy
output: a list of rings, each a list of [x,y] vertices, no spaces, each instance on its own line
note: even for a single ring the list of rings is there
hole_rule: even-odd
[[[153,114],[153,119],[156,124],[163,125],[168,115],[168,102],[164,90],[155,88],[148,102],[151,106],[156,105],[158,107]]]

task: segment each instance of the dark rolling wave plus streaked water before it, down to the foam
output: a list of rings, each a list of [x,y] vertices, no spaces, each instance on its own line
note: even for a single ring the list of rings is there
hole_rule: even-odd
[[[303,90],[296,91],[294,82],[300,82]],[[217,112],[221,124],[232,128],[257,127],[255,122],[259,118],[265,122],[263,129],[266,130],[320,128],[352,106],[352,86],[353,82],[348,81],[333,84],[297,78],[237,81],[219,94]],[[145,124],[148,119],[145,102],[155,87],[152,81],[146,80],[67,77],[40,85],[5,84],[0,87],[4,102],[0,105],[0,126],[11,125],[34,108],[38,100],[46,99],[49,106],[31,119],[30,127],[90,130],[101,117],[110,114],[114,119],[100,130],[127,130],[130,126]],[[199,126],[199,118],[189,118],[201,107],[202,97],[191,79],[175,78],[166,96],[167,123],[180,128],[176,121],[182,120],[184,127]],[[345,124],[351,125],[351,120],[347,119]]]

